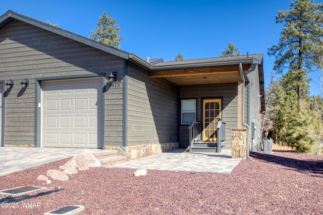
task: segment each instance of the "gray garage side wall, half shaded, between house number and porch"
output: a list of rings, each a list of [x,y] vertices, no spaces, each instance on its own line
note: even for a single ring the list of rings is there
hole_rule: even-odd
[[[177,86],[128,63],[128,146],[167,144],[177,138]]]

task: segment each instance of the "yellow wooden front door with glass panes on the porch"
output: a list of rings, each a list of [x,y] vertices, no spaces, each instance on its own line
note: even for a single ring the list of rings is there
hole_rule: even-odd
[[[217,141],[217,124],[221,120],[221,99],[203,100],[203,141]]]

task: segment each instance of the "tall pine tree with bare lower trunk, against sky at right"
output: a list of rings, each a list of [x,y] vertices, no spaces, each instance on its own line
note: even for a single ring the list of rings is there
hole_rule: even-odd
[[[307,71],[323,54],[323,4],[313,4],[313,0],[292,2],[290,10],[278,12],[276,23],[283,23],[284,27],[278,45],[268,49],[268,55],[276,56],[274,69],[278,72],[286,66],[292,71],[300,83],[297,86],[300,103]]]

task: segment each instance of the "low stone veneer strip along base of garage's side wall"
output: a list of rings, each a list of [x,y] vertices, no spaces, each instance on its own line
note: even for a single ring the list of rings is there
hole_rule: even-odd
[[[149,155],[154,155],[170,150],[178,149],[178,142],[170,142],[167,144],[151,144],[151,145],[139,145],[129,147],[104,147],[105,150],[119,150],[120,156],[126,156],[127,161],[137,158],[143,158]]]

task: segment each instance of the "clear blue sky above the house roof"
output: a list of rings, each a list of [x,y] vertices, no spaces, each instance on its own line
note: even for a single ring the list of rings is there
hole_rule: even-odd
[[[126,0],[0,0],[0,15],[8,10],[33,19],[58,24],[67,31],[89,37],[103,11],[117,18],[121,49],[146,59],[175,60],[218,57],[229,42],[242,55],[264,55],[267,87],[275,57],[267,50],[278,44],[278,11],[290,9],[290,0],[232,1],[126,1]],[[314,3],[319,3],[317,0]],[[279,76],[279,75],[278,75]],[[318,75],[311,74],[311,94],[318,94]]]

